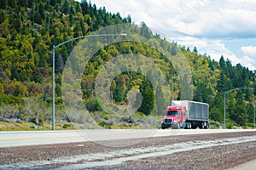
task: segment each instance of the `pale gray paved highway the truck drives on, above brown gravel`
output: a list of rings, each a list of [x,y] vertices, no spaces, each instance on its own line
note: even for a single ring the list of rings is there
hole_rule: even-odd
[[[255,129],[118,129],[118,130],[73,130],[73,131],[16,131],[0,132],[0,148],[40,144],[67,144],[104,140],[147,139],[204,133],[256,132]],[[138,142],[141,142],[138,140]],[[106,145],[106,143],[104,143]],[[112,143],[107,144],[113,146]]]

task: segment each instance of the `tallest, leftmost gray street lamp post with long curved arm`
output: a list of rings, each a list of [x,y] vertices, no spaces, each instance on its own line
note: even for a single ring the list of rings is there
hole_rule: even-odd
[[[55,48],[59,48],[61,45],[67,42],[73,42],[74,40],[82,39],[85,37],[109,37],[109,36],[127,36],[127,34],[92,34],[88,36],[75,37],[73,39],[69,39],[66,42],[61,42],[58,45],[53,45],[52,50],[52,130],[55,130]]]

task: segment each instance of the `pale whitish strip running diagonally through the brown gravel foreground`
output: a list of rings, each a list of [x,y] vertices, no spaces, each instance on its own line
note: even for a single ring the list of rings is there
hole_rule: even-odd
[[[50,164],[71,163],[72,165],[56,169],[84,169],[99,166],[119,165],[125,161],[137,161],[139,159],[166,156],[173,153],[189,150],[197,150],[212,146],[226,144],[240,144],[244,142],[256,141],[256,136],[243,136],[236,138],[224,138],[213,140],[197,140],[192,142],[176,143],[164,146],[148,146],[143,148],[131,148],[127,150],[113,150],[94,154],[84,154],[79,156],[65,156],[53,159],[51,161],[26,161],[15,164],[0,165],[0,169],[12,168],[37,168]],[[77,162],[82,162],[76,164]]]

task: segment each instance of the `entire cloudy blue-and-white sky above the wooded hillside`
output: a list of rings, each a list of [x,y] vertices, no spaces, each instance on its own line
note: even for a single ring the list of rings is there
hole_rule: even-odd
[[[90,0],[97,8],[131,15],[152,30],[201,54],[256,70],[256,1],[253,0]]]

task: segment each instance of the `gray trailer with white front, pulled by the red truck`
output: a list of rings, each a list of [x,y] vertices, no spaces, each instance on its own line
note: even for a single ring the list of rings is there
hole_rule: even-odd
[[[172,100],[172,106],[186,107],[186,124],[188,128],[209,127],[209,105],[189,100]]]

